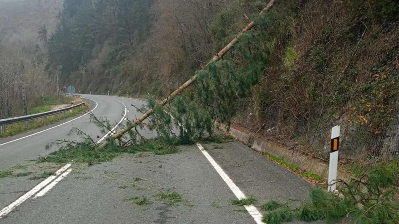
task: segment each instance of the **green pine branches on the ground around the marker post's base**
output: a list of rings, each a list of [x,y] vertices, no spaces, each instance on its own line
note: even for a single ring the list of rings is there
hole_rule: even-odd
[[[356,172],[358,177],[350,183],[337,180],[337,183],[342,183],[339,194],[313,188],[309,202],[300,207],[283,207],[277,206],[278,202],[267,202],[262,206],[269,211],[263,221],[271,224],[287,222],[289,219],[285,214],[290,212],[292,218],[305,222],[326,220],[326,223],[333,223],[349,218],[351,223],[359,224],[399,223],[398,164],[398,161],[391,161],[361,167]]]

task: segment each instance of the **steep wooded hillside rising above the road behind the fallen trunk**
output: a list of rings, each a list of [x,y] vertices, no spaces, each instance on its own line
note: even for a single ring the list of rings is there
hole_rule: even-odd
[[[64,0],[47,69],[80,92],[160,98],[266,4]],[[233,125],[320,158],[336,124],[343,157],[389,157],[399,141],[398,15],[396,0],[277,1],[188,96],[233,116]]]

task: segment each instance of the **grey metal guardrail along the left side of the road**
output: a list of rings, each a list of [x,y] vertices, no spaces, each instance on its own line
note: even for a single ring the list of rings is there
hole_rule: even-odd
[[[84,102],[81,102],[81,103],[73,105],[73,106],[68,106],[65,108],[58,109],[58,110],[51,110],[51,111],[43,112],[43,113],[39,113],[39,114],[31,114],[31,115],[20,116],[20,117],[15,117],[15,118],[0,119],[0,126],[1,126],[0,133],[4,134],[6,125],[15,124],[15,123],[19,123],[19,122],[26,122],[26,121],[35,120],[38,118],[45,118],[47,116],[51,116],[51,115],[55,115],[55,114],[60,114],[60,113],[66,112],[68,110],[78,108],[84,104],[85,104]]]

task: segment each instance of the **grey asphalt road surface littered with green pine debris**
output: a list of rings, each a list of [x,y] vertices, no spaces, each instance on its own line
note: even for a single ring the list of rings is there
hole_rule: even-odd
[[[115,96],[82,96],[93,114],[115,124],[124,122],[124,117],[134,120],[140,116],[130,104],[140,107],[145,103]],[[0,223],[255,224],[261,223],[263,213],[256,206],[269,200],[300,204],[312,187],[236,141],[184,145],[170,155],[124,154],[90,166],[30,161],[47,155],[50,151],[45,145],[51,141],[78,138],[67,136],[71,128],[101,140],[104,134],[89,115],[79,116],[0,139],[0,171],[32,172],[0,178]],[[46,171],[58,171],[59,176],[32,178]],[[174,198],[181,196],[181,202],[170,204],[160,196],[172,192]],[[242,196],[254,196],[255,206],[231,204]],[[136,204],[140,200],[142,204]]]

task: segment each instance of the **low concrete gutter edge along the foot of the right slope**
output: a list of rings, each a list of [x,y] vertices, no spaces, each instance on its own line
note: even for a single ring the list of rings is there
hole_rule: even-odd
[[[217,127],[219,127],[220,130],[227,132],[224,124],[217,124]],[[315,173],[324,180],[328,180],[328,164],[321,162],[319,159],[281,147],[270,141],[261,140],[254,134],[241,132],[234,128],[230,128],[228,133],[256,151],[267,152],[276,157],[283,157],[285,161],[297,165],[299,169]],[[340,167],[338,167],[337,178],[349,183],[352,177],[342,171],[340,172]]]

